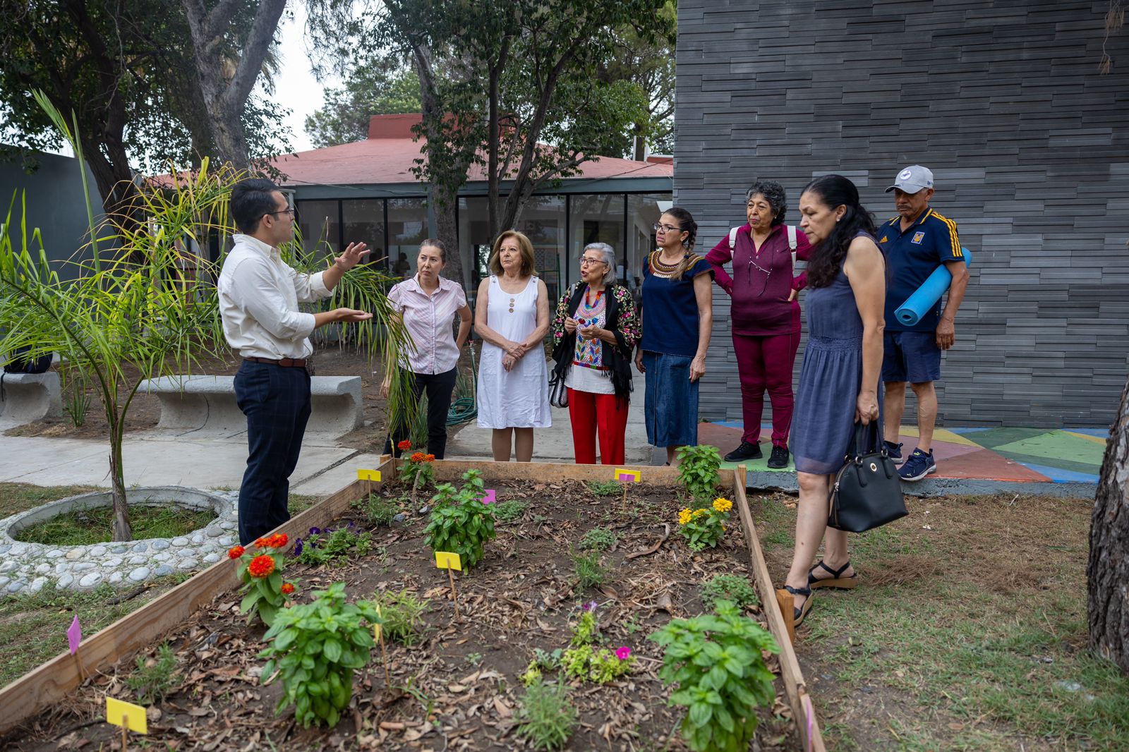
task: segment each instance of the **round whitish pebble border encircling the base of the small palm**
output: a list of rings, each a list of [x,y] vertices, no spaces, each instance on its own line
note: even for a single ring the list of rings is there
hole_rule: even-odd
[[[174,502],[193,509],[211,508],[216,518],[205,527],[178,537],[150,537],[126,543],[43,545],[15,535],[25,527],[72,508],[108,506],[110,493],[97,491],[45,504],[0,521],[0,594],[55,589],[91,591],[104,583],[137,585],[178,571],[209,567],[227,556],[238,537],[238,491],[202,491],[182,487],[130,489],[131,506]]]

